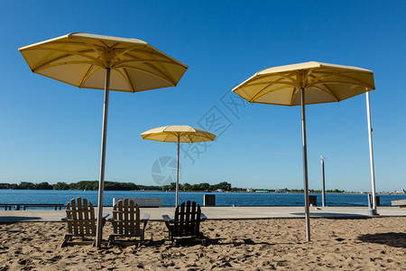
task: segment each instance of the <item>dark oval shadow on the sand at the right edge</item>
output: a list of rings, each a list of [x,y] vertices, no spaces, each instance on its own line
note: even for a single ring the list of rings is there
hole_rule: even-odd
[[[388,245],[394,248],[406,248],[406,233],[404,232],[364,234],[357,239],[367,243]]]

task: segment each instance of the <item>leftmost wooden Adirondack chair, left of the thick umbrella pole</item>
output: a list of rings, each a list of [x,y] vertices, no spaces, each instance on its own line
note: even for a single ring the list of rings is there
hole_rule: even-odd
[[[87,199],[72,199],[66,205],[66,216],[60,218],[68,223],[68,233],[65,234],[61,247],[69,244],[93,243],[96,237],[96,217],[93,204]],[[71,242],[79,237],[82,241]],[[90,237],[90,239],[88,239]]]

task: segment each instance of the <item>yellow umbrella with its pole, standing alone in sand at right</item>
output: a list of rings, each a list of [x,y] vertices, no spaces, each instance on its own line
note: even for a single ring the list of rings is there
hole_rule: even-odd
[[[305,105],[339,102],[374,88],[374,73],[309,61],[261,70],[232,91],[250,103],[301,106],[306,238],[310,240]]]

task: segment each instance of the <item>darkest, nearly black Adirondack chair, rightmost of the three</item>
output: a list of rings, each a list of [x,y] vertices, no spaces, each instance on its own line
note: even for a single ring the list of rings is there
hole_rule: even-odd
[[[166,227],[169,230],[169,238],[171,238],[172,246],[176,246],[175,237],[196,237],[204,244],[203,233],[200,232],[200,221],[208,218],[201,213],[200,205],[195,201],[182,202],[176,207],[175,218],[163,215]]]

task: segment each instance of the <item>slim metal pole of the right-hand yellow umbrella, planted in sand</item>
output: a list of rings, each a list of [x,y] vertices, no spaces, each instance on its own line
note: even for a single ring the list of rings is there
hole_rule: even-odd
[[[305,89],[300,89],[301,103],[301,136],[303,145],[303,180],[305,195],[305,220],[306,220],[306,240],[310,241],[310,214],[309,214],[309,181],[308,181],[308,149],[306,144],[306,112],[305,112]]]

